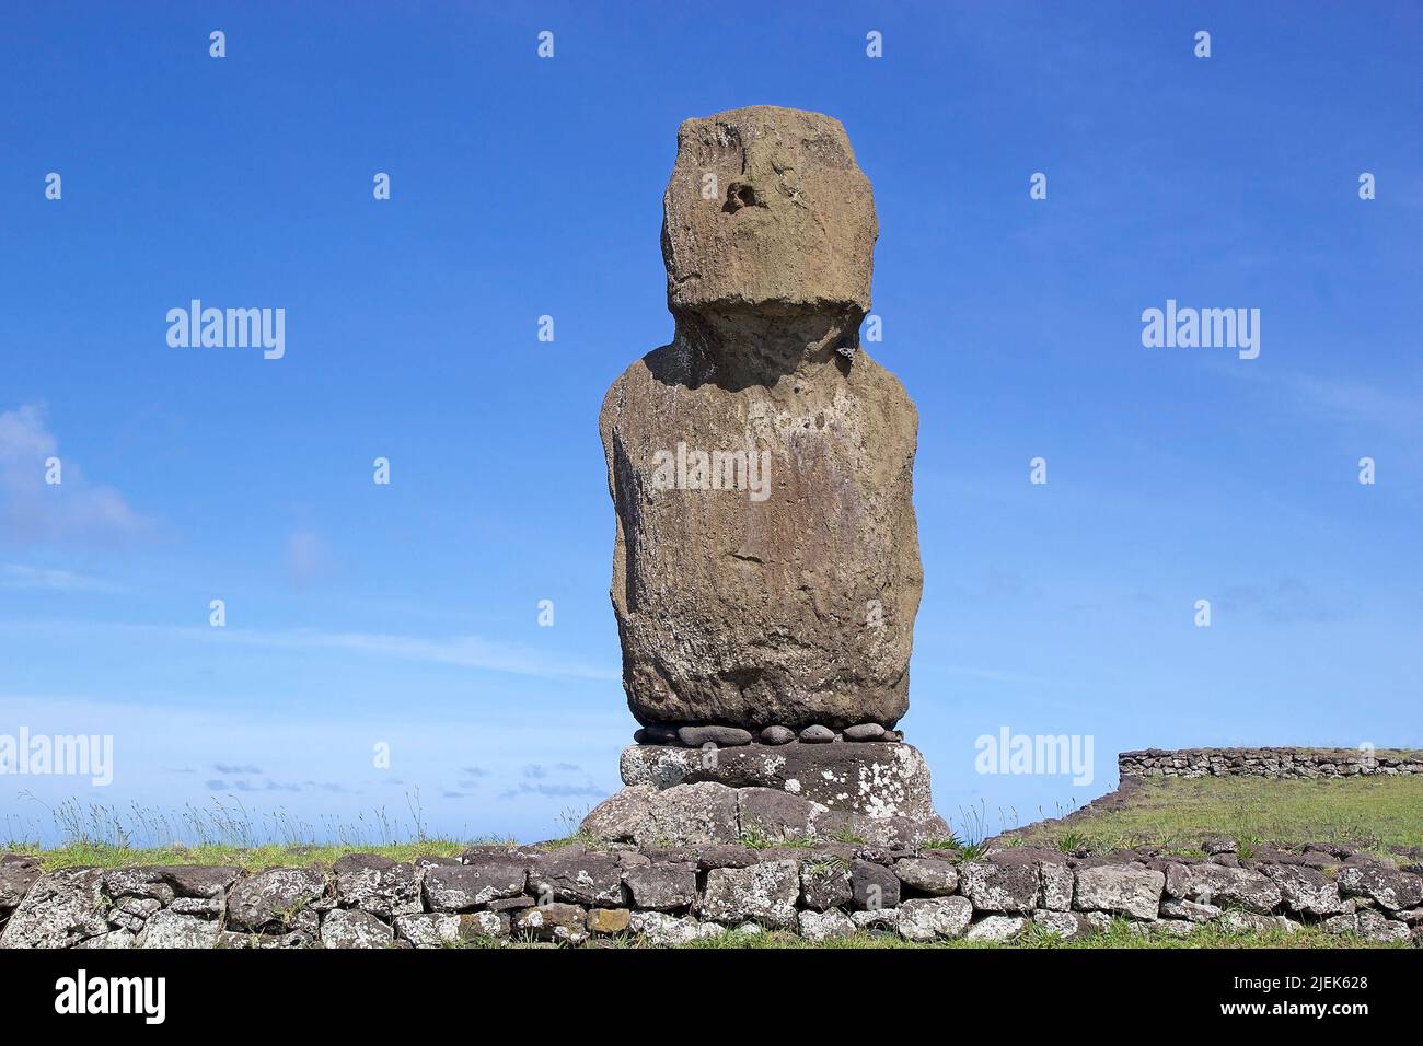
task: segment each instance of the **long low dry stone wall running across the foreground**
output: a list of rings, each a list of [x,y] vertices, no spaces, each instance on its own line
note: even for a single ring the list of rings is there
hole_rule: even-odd
[[[727,929],[814,941],[1073,939],[1126,919],[1134,934],[1296,931],[1423,942],[1423,868],[1345,848],[1210,857],[1072,855],[1026,845],[975,860],[850,842],[750,848],[475,847],[334,867],[61,868],[0,855],[6,948],[441,948],[518,939],[686,945]]]

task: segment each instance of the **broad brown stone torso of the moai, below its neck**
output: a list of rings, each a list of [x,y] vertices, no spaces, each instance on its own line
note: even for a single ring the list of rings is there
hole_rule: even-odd
[[[906,710],[918,417],[862,350],[815,356],[719,383],[673,343],[608,394],[612,601],[645,724],[892,726]]]

